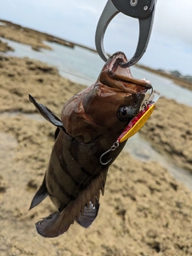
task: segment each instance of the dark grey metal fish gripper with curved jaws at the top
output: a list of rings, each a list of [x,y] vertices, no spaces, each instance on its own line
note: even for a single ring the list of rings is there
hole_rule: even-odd
[[[150,34],[154,22],[154,10],[157,0],[108,0],[99,18],[95,34],[95,45],[98,55],[106,62],[108,56],[103,47],[103,38],[110,21],[119,12],[138,18],[139,38],[134,56],[127,63],[119,63],[121,67],[130,67],[142,58],[150,40]]]

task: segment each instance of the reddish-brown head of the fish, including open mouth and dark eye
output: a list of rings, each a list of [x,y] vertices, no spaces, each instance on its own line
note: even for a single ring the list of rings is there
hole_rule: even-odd
[[[96,83],[75,95],[62,108],[62,123],[66,132],[91,143],[98,139],[115,141],[142,106],[149,81],[134,79],[126,55],[118,52],[107,61]]]

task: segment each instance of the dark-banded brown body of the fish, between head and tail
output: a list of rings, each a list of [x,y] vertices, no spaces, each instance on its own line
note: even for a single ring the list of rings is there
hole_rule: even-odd
[[[108,141],[107,141],[108,144]],[[99,150],[100,149],[100,150]],[[54,143],[46,172],[46,189],[59,211],[78,197],[95,177],[100,177],[98,190],[90,191],[85,205],[99,197],[99,189],[104,189],[108,166],[101,165],[99,157],[105,148],[100,141],[83,144],[71,138],[66,132],[60,131]],[[118,149],[119,152],[121,148]],[[95,193],[95,194],[94,194]],[[91,198],[90,198],[91,197]],[[84,208],[84,206],[82,208]]]

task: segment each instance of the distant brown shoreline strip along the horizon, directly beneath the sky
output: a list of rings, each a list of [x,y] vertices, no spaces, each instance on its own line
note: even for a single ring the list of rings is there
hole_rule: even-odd
[[[0,27],[1,27],[0,37],[5,38],[5,39],[10,39],[10,40],[13,40],[18,43],[30,45],[34,51],[41,51],[41,48],[45,48],[47,50],[52,50],[49,46],[46,45],[46,43],[44,43],[45,41],[47,41],[47,42],[52,42],[52,43],[58,43],[65,47],[71,47],[71,48],[78,46],[78,47],[82,47],[86,50],[93,51],[93,52],[97,53],[97,51],[93,48],[86,47],[82,44],[74,43],[74,42],[68,41],[66,39],[61,39],[54,35],[49,35],[47,33],[44,33],[44,32],[38,31],[38,30],[34,30],[34,29],[30,29],[28,27],[20,26],[13,22],[2,20],[2,19],[0,19],[0,22],[2,22],[3,24],[6,25],[5,26],[3,24],[0,24]],[[5,45],[5,43],[0,43],[0,51],[3,51],[3,52],[10,51],[9,46]],[[171,74],[167,74],[166,71],[158,71],[151,67],[146,67],[139,63],[137,63],[135,66],[142,68],[146,71],[153,72],[157,75],[162,75],[163,77],[173,80],[174,83],[178,84],[179,86],[185,87],[188,90],[192,91],[192,82],[190,82],[189,80],[182,79],[182,78],[179,78],[179,77],[171,75]]]

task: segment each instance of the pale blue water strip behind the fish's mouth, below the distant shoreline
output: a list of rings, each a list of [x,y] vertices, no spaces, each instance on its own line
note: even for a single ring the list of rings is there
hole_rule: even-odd
[[[45,49],[34,51],[30,46],[8,39],[0,39],[9,43],[10,47],[15,49],[15,51],[9,52],[10,55],[19,58],[28,57],[30,59],[38,59],[39,61],[53,65],[58,68],[62,76],[76,83],[85,85],[94,83],[104,64],[97,53],[82,47],[70,48],[63,47],[57,43],[45,42],[53,51]],[[174,99],[178,103],[192,106],[192,91],[179,87],[172,80],[151,73],[150,71],[145,71],[138,67],[130,67],[130,69],[134,77],[150,80],[154,89],[160,91],[161,95],[167,99]],[[81,77],[86,79],[82,79]]]

